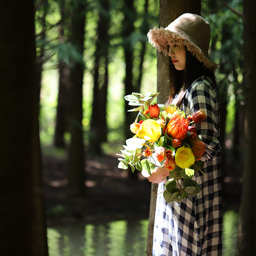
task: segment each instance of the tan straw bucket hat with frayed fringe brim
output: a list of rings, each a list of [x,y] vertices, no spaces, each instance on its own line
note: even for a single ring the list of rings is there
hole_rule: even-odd
[[[210,24],[201,16],[184,13],[172,21],[166,28],[153,28],[148,32],[148,41],[164,55],[168,54],[167,40],[176,41],[178,45],[186,45],[193,56],[204,63],[208,69],[215,70],[218,65],[210,60]]]

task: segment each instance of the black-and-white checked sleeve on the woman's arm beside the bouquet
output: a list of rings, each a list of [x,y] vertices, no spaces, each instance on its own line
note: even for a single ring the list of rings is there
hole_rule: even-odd
[[[190,108],[190,115],[197,110],[202,110],[206,114],[204,120],[201,123],[194,124],[194,126],[197,134],[201,134],[202,141],[206,145],[202,160],[212,160],[220,152],[217,91],[207,80],[196,80],[188,89],[185,99],[187,100],[187,111],[185,112],[188,113],[188,108]]]

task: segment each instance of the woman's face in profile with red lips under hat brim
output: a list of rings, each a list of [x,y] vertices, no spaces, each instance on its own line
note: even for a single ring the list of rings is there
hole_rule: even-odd
[[[176,42],[167,41],[168,55],[172,59],[172,64],[177,70],[183,70],[186,62],[185,46],[179,46]]]

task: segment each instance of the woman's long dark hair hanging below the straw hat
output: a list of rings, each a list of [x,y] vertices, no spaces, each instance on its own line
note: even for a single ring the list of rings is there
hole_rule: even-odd
[[[175,69],[172,61],[169,64],[171,91],[167,104],[174,103],[176,106],[181,106],[183,98],[189,86],[200,76],[208,76],[214,86],[217,88],[214,71],[205,68],[203,62],[197,60],[186,46],[186,61],[184,70]],[[171,58],[171,57],[170,57]]]

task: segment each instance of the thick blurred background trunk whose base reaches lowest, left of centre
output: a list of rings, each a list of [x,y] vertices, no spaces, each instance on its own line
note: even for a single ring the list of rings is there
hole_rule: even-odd
[[[69,194],[73,196],[85,195],[85,153],[83,141],[83,77],[84,77],[84,0],[72,2],[71,37],[70,42],[80,55],[79,60],[72,58],[70,62],[70,97],[71,117],[69,147]]]

